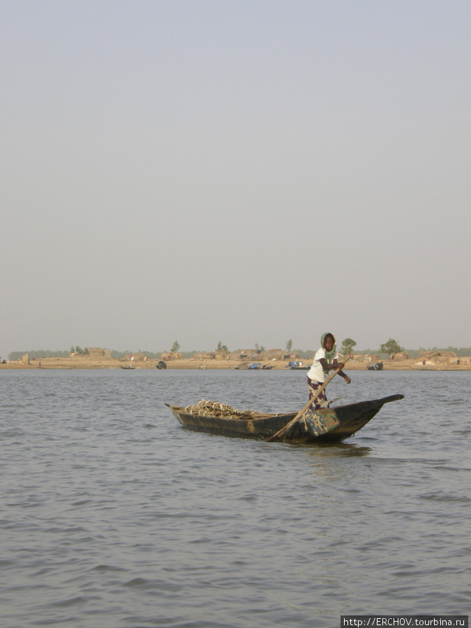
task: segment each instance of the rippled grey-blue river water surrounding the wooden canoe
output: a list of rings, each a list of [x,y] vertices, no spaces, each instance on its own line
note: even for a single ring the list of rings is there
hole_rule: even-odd
[[[471,373],[389,394],[334,446],[188,431],[165,402],[296,411],[297,371],[1,371],[2,628],[336,627],[470,610]]]

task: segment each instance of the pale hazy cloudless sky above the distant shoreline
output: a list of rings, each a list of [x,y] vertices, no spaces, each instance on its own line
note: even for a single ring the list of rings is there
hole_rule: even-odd
[[[0,0],[0,354],[471,345],[469,0]]]

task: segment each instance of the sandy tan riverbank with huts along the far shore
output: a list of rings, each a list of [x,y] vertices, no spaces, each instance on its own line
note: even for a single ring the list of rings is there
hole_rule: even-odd
[[[471,371],[471,359],[470,357],[458,358],[454,363],[438,362],[437,364],[422,364],[418,358],[412,358],[408,360],[382,360],[383,371]],[[0,370],[2,369],[33,369],[33,368],[62,368],[62,369],[81,369],[81,368],[122,368],[123,366],[134,366],[135,370],[140,369],[155,369],[158,364],[158,360],[145,360],[145,361],[130,361],[130,360],[115,360],[111,358],[90,358],[87,356],[74,356],[67,358],[43,358],[40,360],[31,360],[29,364],[24,364],[21,361],[10,362],[8,364],[0,364]],[[167,361],[167,370],[174,368],[180,369],[237,369],[244,368],[243,361],[237,360],[195,360],[195,359],[180,359]],[[287,361],[283,360],[271,360],[261,361],[262,366],[268,366],[274,370],[290,370]],[[303,360],[303,364],[311,364],[311,360]],[[345,371],[365,371],[367,363],[364,361],[352,361],[350,360],[345,366]]]

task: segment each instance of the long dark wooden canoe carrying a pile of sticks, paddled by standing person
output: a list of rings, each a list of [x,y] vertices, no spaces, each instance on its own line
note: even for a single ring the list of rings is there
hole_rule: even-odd
[[[306,410],[290,427],[283,440],[292,442],[345,440],[371,421],[385,403],[398,401],[403,397],[392,395],[325,410]],[[297,414],[297,412],[267,414],[252,410],[241,411],[223,403],[204,400],[186,408],[171,403],[165,405],[172,410],[175,419],[185,428],[224,436],[264,440],[285,427]]]

